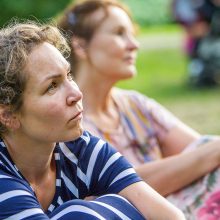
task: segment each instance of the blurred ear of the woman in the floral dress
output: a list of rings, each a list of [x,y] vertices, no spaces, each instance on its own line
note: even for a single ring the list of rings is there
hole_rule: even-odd
[[[72,37],[71,47],[80,59],[85,59],[87,57],[86,41],[84,39],[79,37]]]

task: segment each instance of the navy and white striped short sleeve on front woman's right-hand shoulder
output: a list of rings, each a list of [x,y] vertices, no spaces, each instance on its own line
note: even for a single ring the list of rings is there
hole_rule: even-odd
[[[105,141],[90,136],[91,148],[88,159],[87,178],[91,195],[105,193],[119,193],[127,186],[141,181],[133,167],[127,160]]]

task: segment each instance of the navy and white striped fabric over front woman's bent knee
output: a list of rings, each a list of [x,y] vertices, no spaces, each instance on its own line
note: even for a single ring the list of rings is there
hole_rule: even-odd
[[[71,200],[56,209],[51,219],[123,219],[144,220],[141,213],[125,198],[108,194],[96,198],[94,201]]]

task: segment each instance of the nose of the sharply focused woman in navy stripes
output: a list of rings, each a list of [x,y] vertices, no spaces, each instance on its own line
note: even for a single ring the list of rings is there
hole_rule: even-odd
[[[67,105],[73,105],[82,100],[83,95],[75,82],[70,83],[68,95],[66,98]]]

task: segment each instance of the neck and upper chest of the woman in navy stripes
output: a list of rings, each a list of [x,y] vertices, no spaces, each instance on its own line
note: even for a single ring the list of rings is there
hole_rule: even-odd
[[[40,182],[54,169],[55,144],[43,144],[16,134],[7,135],[3,140],[13,162],[29,183]]]

